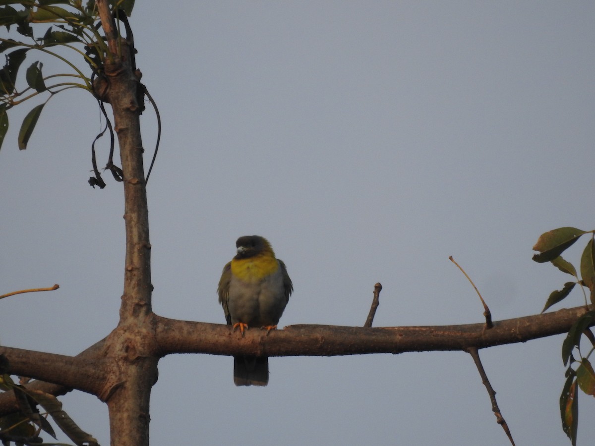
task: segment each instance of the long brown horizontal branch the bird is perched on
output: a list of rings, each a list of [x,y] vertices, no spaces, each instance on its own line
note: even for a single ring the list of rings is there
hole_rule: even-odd
[[[155,316],[159,356],[170,353],[334,356],[406,351],[466,350],[525,342],[568,332],[585,307],[494,322],[437,326],[364,328],[290,325],[283,330],[250,329],[240,335],[229,325],[177,321]]]

